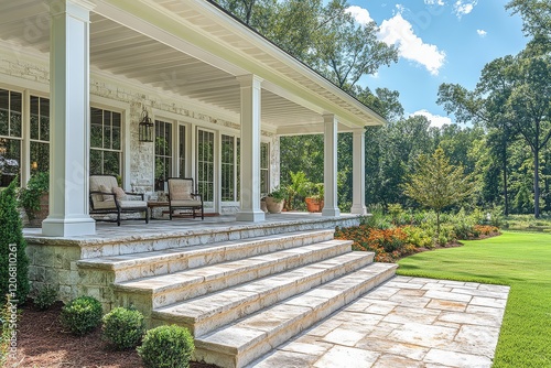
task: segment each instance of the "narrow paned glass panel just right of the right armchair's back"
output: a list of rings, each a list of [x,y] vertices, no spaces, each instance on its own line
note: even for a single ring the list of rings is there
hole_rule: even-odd
[[[214,201],[214,133],[197,131],[197,186],[204,202]]]

